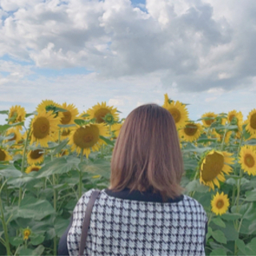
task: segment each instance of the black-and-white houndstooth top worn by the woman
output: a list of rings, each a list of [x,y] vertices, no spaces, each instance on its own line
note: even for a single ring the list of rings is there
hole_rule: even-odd
[[[78,255],[90,190],[74,208],[67,234],[70,255]],[[94,202],[84,255],[205,255],[206,213],[186,195],[173,202],[116,198],[102,190]]]

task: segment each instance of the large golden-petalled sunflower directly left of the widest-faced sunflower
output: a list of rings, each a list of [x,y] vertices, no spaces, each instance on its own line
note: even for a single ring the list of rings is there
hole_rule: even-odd
[[[54,118],[53,112],[46,110],[38,113],[31,122],[31,141],[30,144],[40,142],[41,146],[47,147],[47,142],[54,142],[58,139],[59,118]]]

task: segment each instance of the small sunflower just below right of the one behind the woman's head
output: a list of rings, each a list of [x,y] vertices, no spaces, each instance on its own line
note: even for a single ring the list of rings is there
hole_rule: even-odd
[[[178,132],[185,142],[194,142],[202,134],[202,126],[199,123],[188,122]]]

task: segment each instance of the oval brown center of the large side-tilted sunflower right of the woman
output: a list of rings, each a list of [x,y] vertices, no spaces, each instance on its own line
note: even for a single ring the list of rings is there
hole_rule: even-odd
[[[224,166],[224,157],[222,154],[214,152],[206,156],[206,162],[202,168],[202,179],[205,182],[211,182],[222,172]]]

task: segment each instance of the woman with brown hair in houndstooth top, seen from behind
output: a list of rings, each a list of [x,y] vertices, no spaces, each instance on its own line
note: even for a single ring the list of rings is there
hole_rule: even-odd
[[[206,213],[182,195],[182,173],[171,114],[155,104],[133,110],[114,146],[110,187],[94,202],[84,255],[204,255]],[[75,206],[59,254],[78,255],[92,191]]]

